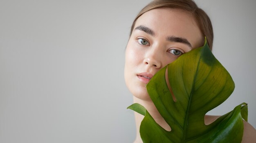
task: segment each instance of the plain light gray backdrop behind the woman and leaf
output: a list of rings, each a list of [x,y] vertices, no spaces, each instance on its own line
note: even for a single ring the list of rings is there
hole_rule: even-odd
[[[256,0],[195,0],[236,83],[209,114],[249,105],[256,127]],[[150,0],[0,0],[0,143],[131,143],[124,52]]]

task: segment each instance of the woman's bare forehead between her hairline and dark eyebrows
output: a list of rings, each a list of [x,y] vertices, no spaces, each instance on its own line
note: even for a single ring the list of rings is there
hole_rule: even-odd
[[[175,36],[186,38],[193,48],[200,47],[203,36],[193,15],[180,9],[153,9],[141,15],[137,26],[146,26],[155,32],[156,37]]]

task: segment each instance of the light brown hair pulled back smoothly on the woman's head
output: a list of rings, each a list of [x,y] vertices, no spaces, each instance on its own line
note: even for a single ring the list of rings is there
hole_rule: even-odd
[[[133,21],[130,35],[132,34],[137,19],[142,14],[152,9],[158,8],[182,9],[184,11],[191,13],[194,16],[194,19],[197,22],[198,27],[200,28],[202,34],[207,37],[209,48],[212,49],[213,28],[211,25],[211,20],[202,9],[198,8],[198,6],[195,4],[193,0],[153,0],[143,9],[141,9],[139,14]],[[202,41],[204,42],[204,38],[202,39]]]

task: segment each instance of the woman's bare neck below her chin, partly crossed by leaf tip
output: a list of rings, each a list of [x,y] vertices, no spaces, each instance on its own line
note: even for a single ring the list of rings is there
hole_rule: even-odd
[[[157,111],[157,108],[155,107],[152,100],[145,101],[145,100],[141,100],[141,99],[136,98],[135,96],[133,96],[133,102],[134,103],[139,103],[142,106],[144,106],[146,108],[146,110],[148,111],[148,113],[150,113],[150,115],[153,117],[153,119],[157,122],[157,124],[159,124],[165,130],[171,131],[170,126],[166,123],[164,118]],[[137,134],[136,134],[136,139],[135,139],[134,143],[142,143],[140,133],[139,133],[139,127],[140,127],[140,124],[141,124],[141,121],[143,120],[143,118],[144,118],[143,115],[135,112],[135,123],[136,123]]]

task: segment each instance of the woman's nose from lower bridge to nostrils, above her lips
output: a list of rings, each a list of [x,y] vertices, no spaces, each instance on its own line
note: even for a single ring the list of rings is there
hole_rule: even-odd
[[[156,51],[152,51],[144,58],[144,64],[159,69],[161,67],[160,56]]]

